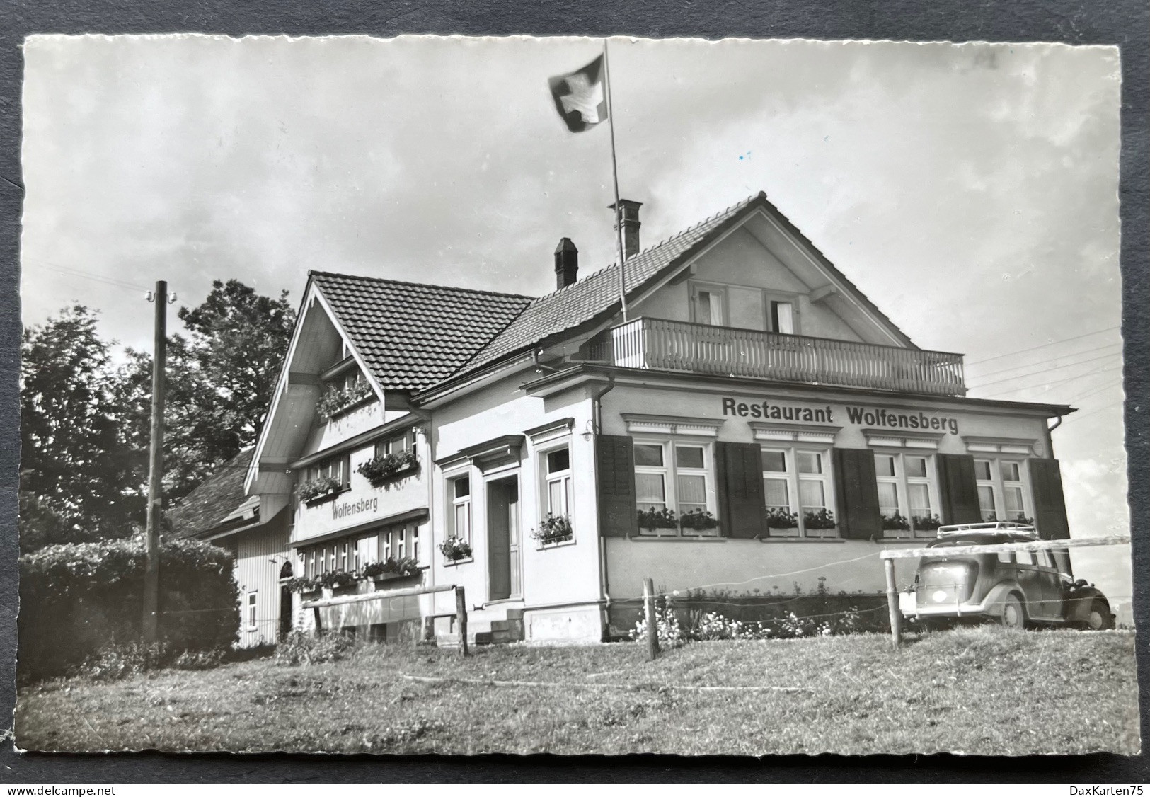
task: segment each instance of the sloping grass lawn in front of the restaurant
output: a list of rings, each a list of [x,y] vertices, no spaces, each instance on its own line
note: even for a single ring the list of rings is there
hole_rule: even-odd
[[[889,645],[877,635],[711,642],[654,662],[637,644],[503,645],[466,660],[365,645],[324,665],[261,659],[28,687],[16,739],[67,751],[1138,751],[1133,633],[982,627]]]

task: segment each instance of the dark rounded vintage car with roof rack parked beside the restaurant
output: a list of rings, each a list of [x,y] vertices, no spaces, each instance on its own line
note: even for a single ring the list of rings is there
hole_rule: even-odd
[[[967,619],[1010,628],[1113,628],[1110,601],[1092,584],[1074,580],[1066,549],[946,554],[948,547],[1037,539],[1034,527],[1021,523],[943,526],[927,546],[931,554],[919,560],[914,585],[899,595],[903,615],[928,629]]]

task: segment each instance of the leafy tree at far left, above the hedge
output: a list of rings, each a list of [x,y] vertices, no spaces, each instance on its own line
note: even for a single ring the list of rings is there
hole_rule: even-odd
[[[21,345],[20,529],[24,550],[118,537],[144,508],[144,460],[125,445],[113,344],[95,313],[64,308]]]

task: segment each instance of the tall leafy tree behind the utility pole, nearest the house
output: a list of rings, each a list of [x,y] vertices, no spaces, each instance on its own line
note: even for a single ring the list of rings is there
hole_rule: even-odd
[[[189,335],[168,339],[164,496],[175,499],[253,445],[271,404],[296,312],[288,291],[260,296],[238,279],[214,281],[198,307],[177,314]],[[129,350],[121,373],[129,427],[146,449],[152,358]]]

